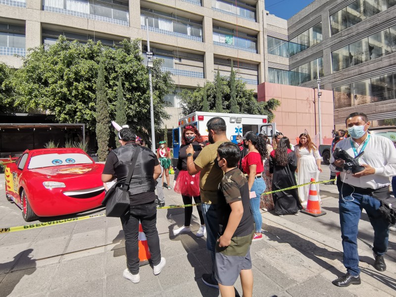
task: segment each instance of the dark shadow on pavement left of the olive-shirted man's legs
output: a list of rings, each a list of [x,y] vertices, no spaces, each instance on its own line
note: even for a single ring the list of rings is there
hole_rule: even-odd
[[[181,212],[177,208],[168,209],[166,217],[171,223],[171,225],[168,227],[169,239],[171,241],[179,241],[186,250],[187,259],[190,262],[191,267],[194,268],[194,279],[197,282],[201,296],[218,297],[219,290],[206,286],[201,279],[202,273],[210,273],[212,264],[210,254],[206,249],[206,238],[198,238],[192,232],[176,236],[173,235],[173,229],[177,229],[178,226],[184,225],[184,216],[180,214]]]

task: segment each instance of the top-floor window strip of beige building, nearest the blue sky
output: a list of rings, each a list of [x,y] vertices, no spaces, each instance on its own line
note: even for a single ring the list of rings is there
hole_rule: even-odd
[[[256,7],[238,0],[212,0],[212,9],[256,21]]]

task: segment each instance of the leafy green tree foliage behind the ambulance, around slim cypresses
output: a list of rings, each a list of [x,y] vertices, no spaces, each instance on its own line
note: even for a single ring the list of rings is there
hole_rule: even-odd
[[[223,112],[230,112],[231,109],[231,88],[230,78],[220,76],[221,80],[221,94],[223,100]],[[194,91],[183,90],[180,93],[180,101],[183,114],[190,114],[192,112],[203,110],[203,94],[207,93],[207,103],[209,110],[215,112],[215,98],[216,98],[216,78],[213,82],[206,82],[205,88],[198,86]],[[278,99],[269,99],[268,101],[260,101],[254,98],[253,90],[246,88],[246,83],[237,79],[235,81],[236,99],[238,106],[240,106],[240,113],[242,114],[262,114],[268,116],[268,121],[274,120],[273,111],[280,106],[281,102]]]

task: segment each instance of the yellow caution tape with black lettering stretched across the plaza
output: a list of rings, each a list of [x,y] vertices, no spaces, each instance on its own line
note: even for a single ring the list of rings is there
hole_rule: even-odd
[[[267,194],[272,194],[276,192],[282,192],[282,191],[287,191],[291,189],[296,189],[299,187],[303,187],[306,185],[310,184],[323,184],[323,183],[328,183],[328,182],[334,182],[336,179],[331,179],[327,181],[320,181],[320,182],[309,182],[281,190],[275,190],[271,192],[265,192],[261,195],[267,195]],[[162,207],[157,207],[157,209],[167,209],[167,208],[181,208],[181,207],[190,207],[190,206],[198,206],[201,205],[201,203],[195,203],[195,204],[184,204],[184,205],[169,205],[169,206],[162,206]],[[64,220],[57,220],[57,221],[52,221],[52,222],[43,222],[39,224],[30,224],[30,225],[24,225],[24,226],[17,226],[17,227],[8,227],[8,228],[0,228],[0,233],[8,233],[8,232],[16,232],[16,231],[22,231],[22,230],[28,230],[28,229],[35,229],[35,228],[42,228],[42,227],[47,227],[47,226],[53,226],[53,225],[59,225],[59,224],[65,224],[65,223],[70,223],[70,222],[75,222],[75,221],[81,221],[81,220],[87,220],[87,219],[92,219],[92,218],[97,218],[99,216],[104,216],[104,213],[99,213],[99,214],[92,214],[92,215],[87,215],[83,217],[77,217],[77,218],[71,218],[71,219],[64,219]]]

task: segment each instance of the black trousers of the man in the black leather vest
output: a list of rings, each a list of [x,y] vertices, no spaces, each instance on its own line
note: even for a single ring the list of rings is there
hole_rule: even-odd
[[[139,273],[139,221],[147,238],[152,264],[158,265],[161,262],[161,250],[156,227],[157,204],[152,201],[141,205],[131,205],[130,213],[121,217],[121,223],[125,234],[127,266],[132,274]]]

